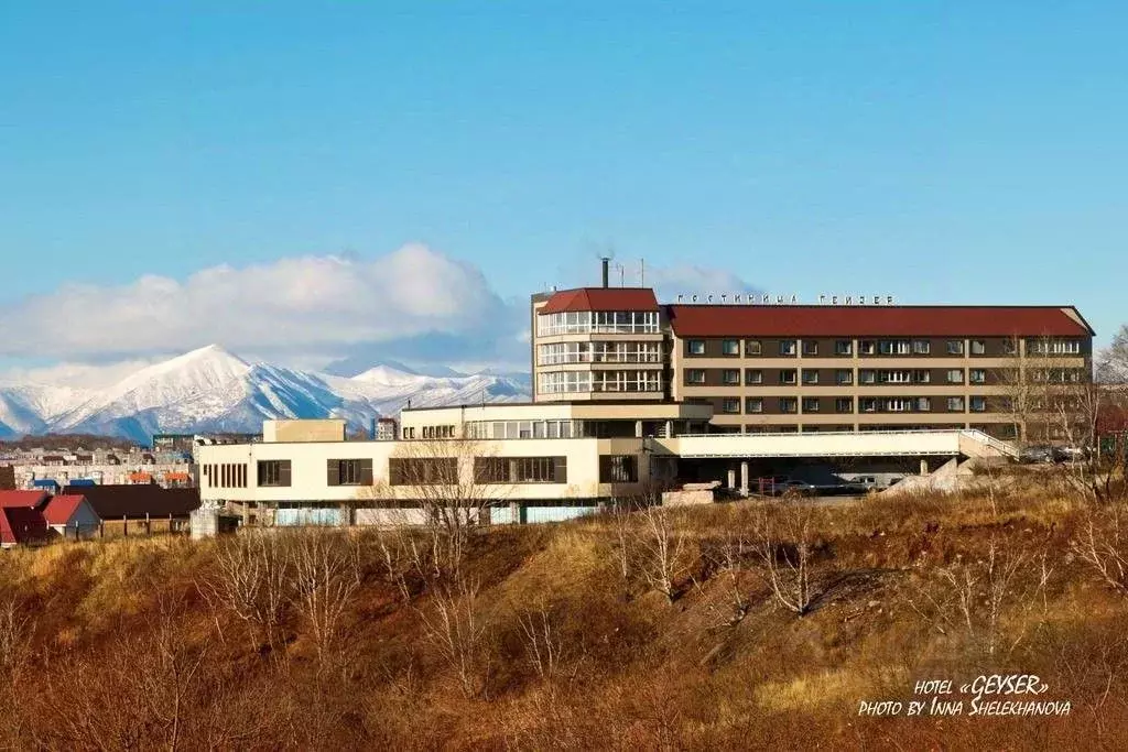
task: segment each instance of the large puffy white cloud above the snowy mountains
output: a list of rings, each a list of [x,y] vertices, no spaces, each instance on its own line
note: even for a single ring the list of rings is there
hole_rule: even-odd
[[[408,245],[371,259],[307,256],[215,266],[184,281],[65,284],[0,309],[0,355],[127,357],[212,343],[235,352],[336,352],[435,333],[479,337],[505,312],[479,271]]]

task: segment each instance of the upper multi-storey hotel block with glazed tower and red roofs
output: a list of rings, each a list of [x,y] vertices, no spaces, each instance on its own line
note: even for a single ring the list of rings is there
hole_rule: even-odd
[[[1093,330],[1072,306],[732,298],[659,304],[652,290],[608,286],[534,295],[534,401],[708,405],[714,432],[1012,439],[1017,383],[1092,373]]]

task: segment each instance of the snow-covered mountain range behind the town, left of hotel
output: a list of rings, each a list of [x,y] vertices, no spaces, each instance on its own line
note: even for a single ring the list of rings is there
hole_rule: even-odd
[[[210,345],[106,389],[0,384],[0,437],[92,433],[148,443],[153,433],[253,433],[270,418],[343,417],[360,427],[408,400],[432,407],[528,396],[522,377],[432,377],[386,364],[340,377],[248,363]]]

